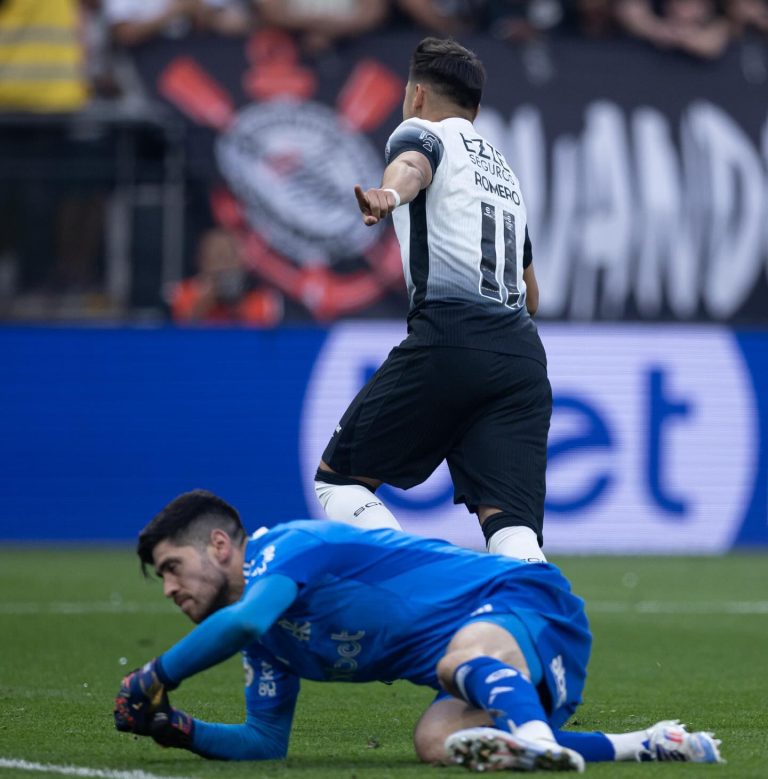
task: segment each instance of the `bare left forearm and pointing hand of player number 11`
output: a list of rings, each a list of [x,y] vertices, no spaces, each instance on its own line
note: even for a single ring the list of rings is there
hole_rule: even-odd
[[[395,158],[384,171],[380,187],[363,192],[355,187],[357,206],[368,226],[386,219],[399,205],[410,203],[422,189],[432,183],[429,160],[416,151],[406,151]]]

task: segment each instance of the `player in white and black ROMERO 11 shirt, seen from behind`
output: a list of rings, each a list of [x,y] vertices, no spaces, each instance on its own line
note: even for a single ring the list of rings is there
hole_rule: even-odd
[[[399,528],[371,493],[420,484],[447,460],[488,550],[545,561],[552,394],[520,184],[472,124],[484,81],[473,52],[421,41],[382,184],[355,188],[365,224],[393,217],[408,336],[344,413],[315,491],[330,519]]]

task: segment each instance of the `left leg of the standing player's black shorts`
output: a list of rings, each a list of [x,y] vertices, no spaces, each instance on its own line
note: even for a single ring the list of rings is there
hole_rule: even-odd
[[[393,349],[337,426],[323,460],[347,476],[397,487],[424,481],[456,435],[457,409],[440,349]]]

